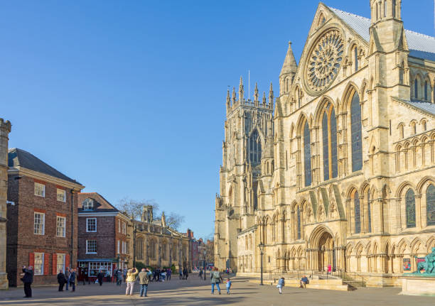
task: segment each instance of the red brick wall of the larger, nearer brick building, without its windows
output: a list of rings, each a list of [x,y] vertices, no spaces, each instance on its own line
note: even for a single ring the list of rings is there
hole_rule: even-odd
[[[45,182],[45,197],[34,195],[33,178],[23,176],[15,180],[16,175],[9,177],[8,200],[15,205],[8,205],[8,256],[6,268],[9,273],[9,285],[22,285],[19,273],[22,266],[28,266],[29,253],[41,251],[49,253],[49,275],[36,275],[35,285],[56,283],[53,275],[53,253],[71,254],[71,263],[77,263],[77,194],[73,194],[73,212],[71,211],[71,190],[66,190],[66,202],[57,200],[55,184]],[[41,182],[41,181],[39,181]],[[44,235],[33,234],[33,213],[45,212]],[[65,219],[65,238],[56,236],[56,215],[62,214]],[[71,240],[73,215],[73,241]],[[13,256],[16,254],[16,256]],[[16,258],[16,260],[14,260]],[[75,264],[73,264],[75,266]]]

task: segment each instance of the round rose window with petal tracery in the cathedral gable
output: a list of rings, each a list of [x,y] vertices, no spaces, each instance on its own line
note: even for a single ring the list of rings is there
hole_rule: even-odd
[[[324,33],[311,48],[306,63],[306,84],[311,92],[320,93],[335,80],[343,60],[344,43],[340,31]]]

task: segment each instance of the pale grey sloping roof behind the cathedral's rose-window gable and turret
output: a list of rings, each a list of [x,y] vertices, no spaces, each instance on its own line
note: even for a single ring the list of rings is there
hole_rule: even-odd
[[[347,23],[350,28],[353,28],[353,30],[364,40],[367,42],[370,41],[369,28],[371,21],[369,18],[340,11],[339,9],[334,9],[332,7],[328,8],[331,9],[338,18]],[[405,30],[405,35],[407,36],[410,56],[435,61],[435,37],[409,30]]]

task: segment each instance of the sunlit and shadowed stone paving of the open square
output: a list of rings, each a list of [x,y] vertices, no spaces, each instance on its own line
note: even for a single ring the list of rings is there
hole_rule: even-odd
[[[435,297],[397,295],[400,288],[358,288],[355,291],[315,290],[284,288],[279,295],[274,286],[249,283],[247,278],[234,278],[231,295],[227,295],[222,284],[222,295],[210,294],[210,279],[200,280],[191,274],[188,280],[173,278],[169,282],[150,283],[149,297],[139,297],[139,285],[135,295],[125,295],[125,285],[112,283],[100,285],[78,285],[76,292],[59,293],[56,287],[33,288],[33,298],[23,298],[22,288],[0,291],[0,306],[8,305],[435,305]]]

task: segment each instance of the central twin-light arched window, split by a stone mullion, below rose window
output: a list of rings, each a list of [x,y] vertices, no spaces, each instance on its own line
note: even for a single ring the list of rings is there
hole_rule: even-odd
[[[323,180],[338,176],[337,162],[337,122],[335,111],[331,104],[323,112]]]

